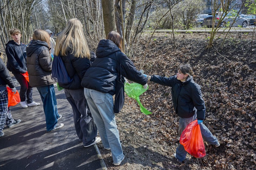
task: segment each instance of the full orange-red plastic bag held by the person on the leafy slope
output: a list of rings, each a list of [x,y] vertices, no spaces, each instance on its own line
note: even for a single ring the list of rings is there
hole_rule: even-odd
[[[193,157],[202,158],[206,155],[200,125],[197,120],[188,124],[182,132],[179,142]]]

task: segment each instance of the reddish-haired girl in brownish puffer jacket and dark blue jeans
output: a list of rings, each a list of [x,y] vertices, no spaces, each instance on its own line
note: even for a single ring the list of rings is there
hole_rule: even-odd
[[[58,124],[62,117],[58,114],[57,100],[53,84],[56,80],[51,76],[52,58],[50,55],[49,35],[42,29],[36,29],[33,42],[27,47],[27,72],[29,83],[36,87],[43,101],[47,132],[63,127]]]

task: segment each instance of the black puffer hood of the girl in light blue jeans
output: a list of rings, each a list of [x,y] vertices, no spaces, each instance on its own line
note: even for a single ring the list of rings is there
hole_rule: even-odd
[[[115,43],[113,43],[109,39],[103,39],[100,40],[97,50],[96,50],[96,56],[98,58],[109,56],[112,53],[115,53],[116,51],[121,51]]]

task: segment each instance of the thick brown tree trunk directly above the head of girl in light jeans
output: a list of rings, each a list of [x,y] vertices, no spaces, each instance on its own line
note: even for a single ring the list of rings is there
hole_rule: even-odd
[[[104,21],[106,36],[110,31],[115,30],[113,8],[114,8],[114,4],[112,0],[102,0],[102,13],[103,13],[103,21]]]

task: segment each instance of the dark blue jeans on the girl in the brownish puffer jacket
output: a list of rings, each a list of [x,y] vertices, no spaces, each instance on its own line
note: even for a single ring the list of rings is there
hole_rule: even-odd
[[[55,128],[60,117],[57,110],[57,100],[53,84],[37,87],[41,96],[45,114],[46,130],[50,131]]]

